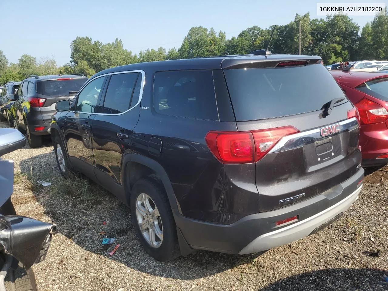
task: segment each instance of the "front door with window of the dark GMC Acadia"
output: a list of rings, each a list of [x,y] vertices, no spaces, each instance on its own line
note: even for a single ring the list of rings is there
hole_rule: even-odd
[[[91,130],[105,81],[106,76],[102,76],[84,85],[64,118],[64,137],[70,163],[92,179],[95,179],[95,175]]]

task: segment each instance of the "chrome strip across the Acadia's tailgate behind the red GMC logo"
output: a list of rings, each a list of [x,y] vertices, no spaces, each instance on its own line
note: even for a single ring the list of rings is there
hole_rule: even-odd
[[[355,117],[340,121],[338,123],[340,124],[340,132],[343,132],[345,130],[351,131],[359,127],[359,123]],[[331,125],[334,124],[337,123],[332,123]],[[310,140],[320,139],[322,137],[320,135],[320,129],[322,127],[324,127],[324,125],[320,126],[319,128],[315,128],[305,132],[286,135],[285,137],[282,137],[277,144],[275,144],[275,146],[269,151],[269,153],[296,149],[298,147],[303,147],[303,145],[305,145],[305,143]]]

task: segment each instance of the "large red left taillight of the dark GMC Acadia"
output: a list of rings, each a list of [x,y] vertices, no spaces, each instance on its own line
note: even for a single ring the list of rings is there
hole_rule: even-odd
[[[247,132],[209,132],[206,144],[223,164],[253,163],[262,159],[284,136],[299,131],[293,126]]]

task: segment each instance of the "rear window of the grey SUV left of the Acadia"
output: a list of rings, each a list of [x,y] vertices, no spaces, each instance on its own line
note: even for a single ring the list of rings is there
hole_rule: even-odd
[[[38,94],[47,96],[71,96],[75,91],[80,90],[87,78],[77,78],[70,80],[47,80],[36,84]]]

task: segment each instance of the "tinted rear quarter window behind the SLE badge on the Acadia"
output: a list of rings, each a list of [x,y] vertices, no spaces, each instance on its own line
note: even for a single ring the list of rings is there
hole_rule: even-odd
[[[154,109],[164,115],[219,120],[213,72],[190,70],[156,73]]]

